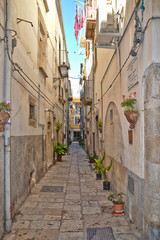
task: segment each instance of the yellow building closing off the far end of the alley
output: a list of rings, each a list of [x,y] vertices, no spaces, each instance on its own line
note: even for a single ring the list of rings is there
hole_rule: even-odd
[[[70,103],[70,131],[71,131],[71,140],[77,141],[81,137],[80,131],[80,108],[81,102],[79,98],[73,98]]]

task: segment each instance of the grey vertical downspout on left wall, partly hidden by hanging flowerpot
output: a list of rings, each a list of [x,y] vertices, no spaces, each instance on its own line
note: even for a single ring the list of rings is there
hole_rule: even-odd
[[[11,84],[11,62],[8,54],[11,54],[11,0],[4,0],[6,19],[5,19],[5,37],[7,39],[4,49],[4,99],[9,101],[11,99],[10,84]],[[5,126],[4,131],[4,215],[5,215],[5,231],[11,231],[11,146],[10,146],[10,125]]]

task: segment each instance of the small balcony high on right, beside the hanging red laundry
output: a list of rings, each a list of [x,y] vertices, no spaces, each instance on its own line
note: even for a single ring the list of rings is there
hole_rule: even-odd
[[[86,40],[93,40],[96,28],[96,10],[87,6],[86,8]]]

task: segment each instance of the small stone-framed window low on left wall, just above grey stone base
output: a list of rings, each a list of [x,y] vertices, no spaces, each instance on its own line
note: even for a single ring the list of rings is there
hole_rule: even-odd
[[[36,100],[29,96],[29,119],[28,124],[30,126],[37,126],[37,102]]]

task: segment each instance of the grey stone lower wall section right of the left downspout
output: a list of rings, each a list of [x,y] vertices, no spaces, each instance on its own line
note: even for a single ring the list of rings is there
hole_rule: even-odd
[[[42,136],[11,137],[12,216],[43,175]]]

